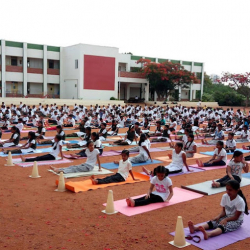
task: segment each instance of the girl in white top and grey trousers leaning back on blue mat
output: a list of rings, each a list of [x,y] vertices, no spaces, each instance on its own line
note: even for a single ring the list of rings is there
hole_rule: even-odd
[[[149,158],[151,159],[151,162],[153,162],[151,155],[149,153],[149,145],[147,143],[147,137],[145,134],[141,134],[139,141],[139,155],[131,157],[130,161],[132,163],[142,163],[146,162]]]

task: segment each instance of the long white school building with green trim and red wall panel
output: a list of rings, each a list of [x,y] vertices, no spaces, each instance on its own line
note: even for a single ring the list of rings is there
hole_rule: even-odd
[[[170,60],[194,72],[198,83],[179,88],[179,100],[196,99],[203,93],[204,63],[119,53],[118,48],[77,44],[56,47],[0,40],[0,96],[83,100],[128,100],[135,96],[148,101],[157,95],[136,61]]]

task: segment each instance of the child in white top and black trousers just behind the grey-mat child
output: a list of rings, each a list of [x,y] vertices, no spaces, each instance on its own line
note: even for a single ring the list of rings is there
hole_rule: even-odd
[[[214,155],[208,162],[202,163],[201,160],[196,160],[198,167],[213,167],[213,166],[226,166],[227,164],[227,152],[224,149],[224,142],[218,141]]]

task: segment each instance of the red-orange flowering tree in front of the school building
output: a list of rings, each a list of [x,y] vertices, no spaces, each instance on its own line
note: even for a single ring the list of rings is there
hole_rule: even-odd
[[[179,63],[155,63],[143,58],[137,63],[142,65],[141,73],[149,80],[151,93],[156,91],[158,97],[168,97],[177,86],[198,82],[195,74],[185,70]]]

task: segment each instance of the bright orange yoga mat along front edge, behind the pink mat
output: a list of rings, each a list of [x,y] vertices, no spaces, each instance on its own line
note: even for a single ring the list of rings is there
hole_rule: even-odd
[[[100,184],[100,185],[93,185],[91,180],[86,181],[69,181],[65,184],[66,189],[74,192],[84,192],[88,190],[94,190],[99,188],[106,188],[111,186],[117,186],[117,185],[124,185],[124,184],[131,184],[141,181],[149,181],[149,176],[140,174],[137,172],[133,172],[135,179],[139,179],[138,181],[134,181],[131,176],[128,177],[128,179],[124,182],[118,182],[118,183],[109,183],[109,184]],[[56,185],[58,185],[58,180],[56,180]]]

